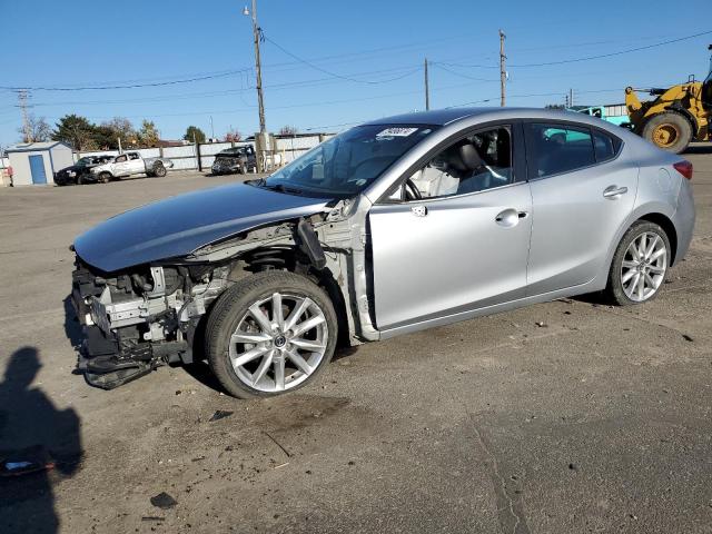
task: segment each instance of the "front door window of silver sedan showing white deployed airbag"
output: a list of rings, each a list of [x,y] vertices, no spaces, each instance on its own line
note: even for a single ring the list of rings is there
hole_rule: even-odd
[[[415,171],[402,198],[442,198],[478,192],[512,184],[512,129],[508,126],[477,131],[438,152]]]

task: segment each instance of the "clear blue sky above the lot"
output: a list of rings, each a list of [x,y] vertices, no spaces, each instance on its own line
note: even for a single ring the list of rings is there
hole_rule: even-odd
[[[160,83],[218,75],[134,89],[33,90],[31,112],[52,125],[66,113],[96,122],[122,116],[136,126],[148,118],[166,139],[180,138],[189,125],[209,136],[212,116],[216,136],[230,127],[253,134],[257,99],[244,2],[0,0],[0,86]],[[492,100],[481,105],[496,106],[498,28],[507,34],[512,106],[563,103],[570,88],[576,103],[614,103],[626,85],[665,86],[706,73],[712,34],[607,59],[526,67],[712,30],[710,0],[685,1],[685,13],[696,18],[660,18],[655,13],[670,6],[662,0],[575,3],[259,0],[267,126],[336,131],[423,109],[426,56],[435,62],[433,108],[485,99]],[[19,139],[16,105],[14,92],[0,90],[1,146]]]

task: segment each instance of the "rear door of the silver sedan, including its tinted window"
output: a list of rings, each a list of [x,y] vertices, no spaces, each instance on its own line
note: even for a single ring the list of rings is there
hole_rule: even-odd
[[[527,296],[591,281],[633,209],[637,165],[597,128],[525,125],[533,229]]]

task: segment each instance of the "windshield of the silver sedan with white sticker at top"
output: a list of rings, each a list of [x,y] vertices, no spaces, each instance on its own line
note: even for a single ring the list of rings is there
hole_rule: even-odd
[[[315,197],[354,196],[436,128],[424,125],[359,126],[315,147],[261,180],[259,186]]]

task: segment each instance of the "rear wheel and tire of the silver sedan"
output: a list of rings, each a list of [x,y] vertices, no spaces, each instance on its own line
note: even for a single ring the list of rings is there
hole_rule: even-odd
[[[637,249],[641,246],[642,236],[646,236],[645,248],[651,247],[651,243],[654,241],[649,257],[660,254],[653,261],[645,260],[645,258],[640,261],[631,250],[631,247]],[[663,253],[660,253],[661,247],[664,249]],[[659,225],[646,220],[634,222],[621,238],[621,243],[613,255],[605,288],[606,297],[619,306],[643,304],[655,298],[665,281],[671,253],[668,234]],[[645,274],[647,278],[645,278]],[[643,276],[642,293],[640,291],[640,285],[636,285],[636,280],[640,280],[641,276]],[[649,284],[649,280],[652,284]]]

